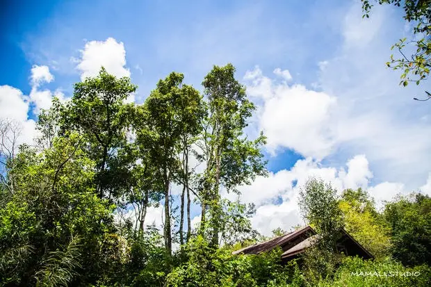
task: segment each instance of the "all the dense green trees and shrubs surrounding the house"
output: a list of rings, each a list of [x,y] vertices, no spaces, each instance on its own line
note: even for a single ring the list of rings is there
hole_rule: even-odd
[[[126,101],[130,79],[101,69],[42,110],[34,146],[17,147],[19,127],[2,119],[0,286],[429,286],[431,199],[420,194],[377,212],[365,190],[339,196],[310,179],[300,206],[320,240],[301,264],[282,265],[280,250],[232,255],[265,238],[254,206],[222,195],[266,174],[234,72],[215,66],[204,95],[172,73],[138,105]],[[146,221],[159,205],[160,230]],[[341,227],[376,260],[336,254]]]

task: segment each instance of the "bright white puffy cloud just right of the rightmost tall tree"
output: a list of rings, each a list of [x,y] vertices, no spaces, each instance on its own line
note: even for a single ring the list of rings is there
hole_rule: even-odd
[[[323,158],[333,145],[331,110],[336,99],[324,92],[307,90],[303,85],[273,83],[259,67],[248,71],[247,91],[263,99],[260,128],[268,137],[268,149],[295,149],[304,156]]]

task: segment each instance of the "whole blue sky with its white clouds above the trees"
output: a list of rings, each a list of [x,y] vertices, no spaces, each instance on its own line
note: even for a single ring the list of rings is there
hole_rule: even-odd
[[[401,88],[384,65],[411,35],[400,9],[361,19],[359,1],[345,0],[10,2],[0,9],[0,117],[22,121],[23,141],[38,107],[70,97],[100,63],[131,76],[138,103],[172,71],[200,88],[212,65],[233,63],[259,106],[247,132],[268,136],[270,177],[241,188],[262,232],[298,222],[298,186],[311,175],[380,200],[431,192],[431,106],[412,101],[430,83]]]

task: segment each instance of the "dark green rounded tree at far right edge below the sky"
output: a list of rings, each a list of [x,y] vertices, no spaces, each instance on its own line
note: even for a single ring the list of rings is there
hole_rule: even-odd
[[[431,261],[431,198],[412,194],[399,197],[384,207],[384,218],[391,227],[392,255],[404,265]]]

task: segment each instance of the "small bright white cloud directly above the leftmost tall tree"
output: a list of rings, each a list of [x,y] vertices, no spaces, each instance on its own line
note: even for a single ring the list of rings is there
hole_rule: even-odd
[[[81,72],[81,79],[97,76],[102,66],[114,76],[130,76],[130,70],[124,67],[126,65],[124,44],[114,38],[87,42],[78,62],[76,68]]]

